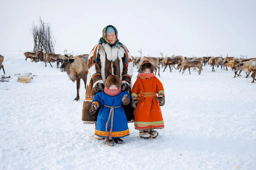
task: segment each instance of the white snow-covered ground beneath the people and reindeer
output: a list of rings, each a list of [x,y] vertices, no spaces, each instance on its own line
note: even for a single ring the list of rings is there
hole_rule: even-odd
[[[106,146],[93,138],[94,125],[81,121],[76,83],[44,62],[25,61],[23,53],[2,53],[6,75],[37,75],[22,84],[0,82],[0,169],[256,169],[256,83],[232,78],[234,72],[182,75],[167,68],[165,128],[144,140],[129,123],[125,144]],[[192,70],[192,69],[191,69]],[[137,71],[134,68],[133,82]],[[3,74],[3,71],[0,71]]]

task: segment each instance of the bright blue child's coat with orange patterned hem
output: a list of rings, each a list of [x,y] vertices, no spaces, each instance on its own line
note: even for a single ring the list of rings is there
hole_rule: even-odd
[[[127,91],[121,91],[116,96],[110,96],[104,91],[97,93],[94,97],[92,102],[98,102],[99,106],[101,106],[98,117],[97,117],[97,123],[95,128],[95,135],[100,137],[106,137],[105,136],[105,130],[106,130],[106,123],[108,121],[109,115],[110,115],[110,108],[114,109],[113,114],[113,128],[112,128],[112,138],[121,138],[130,135],[126,115],[124,112],[123,107],[121,106],[123,104],[122,97],[124,95],[127,95],[130,100],[130,95]],[[106,106],[109,107],[106,107]],[[112,116],[112,115],[111,115]],[[108,123],[108,129],[107,129],[107,137],[109,137],[109,132],[111,129],[111,117],[109,119]]]

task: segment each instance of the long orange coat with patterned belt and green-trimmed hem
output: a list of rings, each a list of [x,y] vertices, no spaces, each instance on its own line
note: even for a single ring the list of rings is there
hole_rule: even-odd
[[[163,116],[159,102],[156,99],[156,94],[164,94],[163,84],[156,78],[156,76],[146,79],[137,78],[133,85],[131,94],[132,98],[138,99],[139,96],[141,96],[134,110],[135,129],[146,130],[150,128],[164,128]]]

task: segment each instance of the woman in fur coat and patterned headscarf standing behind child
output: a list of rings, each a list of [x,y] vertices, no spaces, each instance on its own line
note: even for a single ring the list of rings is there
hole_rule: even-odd
[[[95,45],[88,57],[88,75],[85,92],[85,101],[83,102],[82,121],[84,123],[96,123],[98,111],[90,114],[90,106],[94,95],[103,91],[106,77],[109,75],[118,75],[122,81],[121,90],[128,91],[131,95],[131,77],[133,75],[133,62],[128,49],[119,42],[118,32],[112,25],[106,26],[99,43]],[[124,108],[127,122],[133,122],[134,109],[131,103]],[[100,110],[100,109],[98,109]],[[95,124],[96,127],[96,124]],[[94,135],[96,139],[103,139]],[[115,138],[115,142],[123,143],[122,139]]]

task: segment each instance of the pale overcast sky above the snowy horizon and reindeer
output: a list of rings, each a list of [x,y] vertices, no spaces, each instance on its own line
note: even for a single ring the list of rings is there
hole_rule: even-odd
[[[31,24],[51,23],[55,53],[90,53],[114,25],[132,56],[256,57],[256,1],[0,1],[0,52],[31,51]]]

